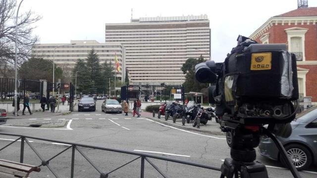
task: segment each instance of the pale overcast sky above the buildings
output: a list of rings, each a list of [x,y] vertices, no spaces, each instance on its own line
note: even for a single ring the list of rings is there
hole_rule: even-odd
[[[131,8],[133,18],[207,14],[211,58],[222,62],[239,34],[250,36],[269,17],[296,9],[297,0],[24,0],[21,11],[30,8],[43,17],[34,30],[41,43],[103,43],[105,23],[130,22]]]

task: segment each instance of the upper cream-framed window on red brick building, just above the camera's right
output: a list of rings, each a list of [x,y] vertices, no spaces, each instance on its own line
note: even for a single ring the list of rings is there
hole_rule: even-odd
[[[301,27],[285,29],[288,50],[296,55],[298,61],[305,61],[305,34],[307,31],[308,29]]]

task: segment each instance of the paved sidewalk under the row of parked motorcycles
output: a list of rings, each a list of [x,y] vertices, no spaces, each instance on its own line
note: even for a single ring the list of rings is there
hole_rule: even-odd
[[[182,120],[177,119],[176,123],[173,123],[172,117],[169,117],[167,121],[165,121],[165,117],[161,116],[160,119],[158,119],[158,113],[155,113],[155,117],[153,117],[153,113],[142,111],[141,117],[146,117],[148,119],[151,119],[153,121],[159,122],[161,124],[165,124],[168,126],[172,126],[178,129],[184,129],[188,131],[196,131],[196,132],[202,132],[207,134],[216,134],[216,135],[225,135],[225,133],[221,132],[219,127],[220,125],[215,122],[214,117],[211,119],[211,121],[208,121],[207,125],[201,125],[200,129],[197,127],[193,127],[193,123],[190,122],[187,124],[185,123],[185,126],[182,125]]]

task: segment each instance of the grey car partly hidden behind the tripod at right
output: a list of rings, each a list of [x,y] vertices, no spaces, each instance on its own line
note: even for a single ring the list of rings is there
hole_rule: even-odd
[[[290,160],[299,171],[309,168],[312,164],[317,165],[317,106],[298,114],[291,126],[292,134],[289,137],[278,137]],[[262,156],[278,160],[286,167],[270,138],[262,137],[259,151]]]

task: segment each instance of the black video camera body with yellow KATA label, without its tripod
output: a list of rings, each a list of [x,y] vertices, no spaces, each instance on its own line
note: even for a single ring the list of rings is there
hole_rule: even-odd
[[[289,123],[299,97],[296,56],[285,44],[257,44],[243,36],[223,63],[195,66],[196,79],[215,83],[209,102],[215,114],[248,125]]]

